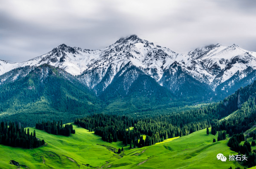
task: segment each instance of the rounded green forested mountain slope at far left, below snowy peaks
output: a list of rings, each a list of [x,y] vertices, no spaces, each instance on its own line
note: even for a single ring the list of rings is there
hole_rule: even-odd
[[[26,122],[26,126],[52,118],[74,120],[100,109],[101,105],[74,76],[49,65],[31,68],[25,77],[0,88],[0,119]],[[26,120],[31,117],[31,121]]]

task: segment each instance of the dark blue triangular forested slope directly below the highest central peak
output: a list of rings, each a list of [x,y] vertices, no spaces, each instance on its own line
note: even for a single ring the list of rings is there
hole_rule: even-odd
[[[102,87],[98,84],[96,88]],[[170,91],[159,85],[155,79],[146,75],[142,70],[134,65],[123,67],[113,78],[112,83],[99,96],[103,100],[123,97],[144,97],[149,102],[166,104],[174,98]],[[139,100],[139,99],[138,99]]]

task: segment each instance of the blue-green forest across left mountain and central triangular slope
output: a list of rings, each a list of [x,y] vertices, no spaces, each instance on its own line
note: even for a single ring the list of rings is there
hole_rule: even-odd
[[[38,120],[69,123],[100,112],[118,115],[179,112],[184,110],[184,105],[198,102],[190,97],[175,98],[142,73],[126,96],[125,91],[117,90],[124,85],[118,78],[113,80],[116,83],[111,83],[101,95],[96,96],[77,77],[47,64],[17,68],[0,78],[6,79],[0,84],[0,120],[21,123],[26,127],[34,127]],[[37,120],[31,118],[33,116],[37,116]]]

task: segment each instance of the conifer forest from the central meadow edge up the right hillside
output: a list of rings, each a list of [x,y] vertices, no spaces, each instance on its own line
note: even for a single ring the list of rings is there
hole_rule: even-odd
[[[164,139],[188,135],[203,128],[212,126],[212,133],[219,131],[218,141],[226,138],[226,130],[230,135],[246,131],[255,124],[256,82],[245,88],[240,88],[233,95],[218,103],[202,106],[197,109],[172,114],[147,114],[138,116],[129,114],[117,116],[111,114],[94,114],[75,120],[75,124],[94,130],[104,141],[112,142],[117,139],[125,144],[147,146]],[[239,114],[230,118],[220,119],[230,115],[240,108]],[[129,130],[134,127],[134,130]],[[141,134],[146,135],[141,140]],[[140,139],[142,143],[137,143]]]

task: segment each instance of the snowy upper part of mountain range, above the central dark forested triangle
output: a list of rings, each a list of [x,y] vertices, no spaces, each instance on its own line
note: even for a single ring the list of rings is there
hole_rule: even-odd
[[[0,60],[0,75],[14,68],[42,64],[59,67],[76,75],[97,94],[104,91],[116,76],[122,75],[127,93],[141,73],[151,76],[176,95],[189,94],[192,89],[209,94],[224,82],[229,82],[226,86],[230,90],[234,80],[229,79],[241,80],[255,70],[256,52],[244,50],[235,44],[228,47],[216,44],[178,54],[132,35],[98,50],[61,44],[46,54],[22,63]],[[225,86],[221,90],[226,91]]]

